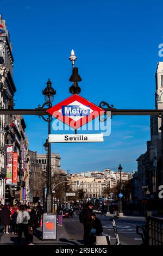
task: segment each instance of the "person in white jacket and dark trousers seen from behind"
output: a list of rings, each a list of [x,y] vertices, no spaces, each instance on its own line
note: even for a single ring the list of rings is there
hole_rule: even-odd
[[[16,223],[18,226],[18,245],[21,243],[22,233],[26,239],[28,245],[28,221],[30,219],[28,211],[26,211],[24,205],[20,205],[20,211],[17,214]]]

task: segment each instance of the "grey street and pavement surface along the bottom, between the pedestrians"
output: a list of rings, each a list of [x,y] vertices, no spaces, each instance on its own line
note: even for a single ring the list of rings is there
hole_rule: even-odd
[[[108,216],[97,215],[102,222],[103,232],[111,236],[111,245],[115,243],[114,231]],[[145,218],[139,216],[126,216],[116,220],[118,234],[121,245],[140,245],[141,237],[136,234],[136,225],[145,224]],[[74,217],[64,218],[62,227],[57,228],[57,241],[41,240],[41,227],[34,236],[35,245],[83,245],[83,224],[79,222],[78,211],[74,212]],[[0,245],[15,245],[17,236],[14,234],[4,234]],[[24,244],[24,238],[22,239]]]

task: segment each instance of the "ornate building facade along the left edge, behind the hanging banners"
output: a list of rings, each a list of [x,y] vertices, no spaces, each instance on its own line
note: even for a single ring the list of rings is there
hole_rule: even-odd
[[[2,15],[0,15],[0,25],[2,29],[0,34],[0,108],[13,109],[16,92],[12,78],[14,58],[9,31]],[[26,194],[26,182],[24,181],[27,152],[25,129],[26,124],[22,115],[0,115],[0,201],[3,204],[11,202],[14,197],[20,199],[20,191],[24,190],[24,197]],[[5,182],[7,178],[7,145],[10,145],[12,151],[18,155],[18,177],[14,186],[12,186],[12,181],[10,185]]]

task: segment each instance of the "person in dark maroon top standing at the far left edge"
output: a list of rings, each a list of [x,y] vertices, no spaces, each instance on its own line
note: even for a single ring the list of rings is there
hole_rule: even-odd
[[[4,225],[4,234],[9,235],[9,224],[10,224],[10,210],[7,204],[3,206],[1,210],[1,223]]]

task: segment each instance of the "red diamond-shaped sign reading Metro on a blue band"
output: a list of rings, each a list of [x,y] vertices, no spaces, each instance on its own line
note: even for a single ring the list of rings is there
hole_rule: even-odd
[[[74,129],[78,129],[99,115],[104,114],[102,108],[78,94],[61,101],[54,107],[49,108],[47,112]]]

